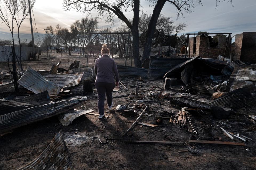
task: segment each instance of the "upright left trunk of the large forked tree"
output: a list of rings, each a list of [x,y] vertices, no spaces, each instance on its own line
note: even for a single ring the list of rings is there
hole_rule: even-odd
[[[141,67],[141,59],[139,56],[139,0],[134,0],[134,15],[133,15],[133,56],[135,67]]]

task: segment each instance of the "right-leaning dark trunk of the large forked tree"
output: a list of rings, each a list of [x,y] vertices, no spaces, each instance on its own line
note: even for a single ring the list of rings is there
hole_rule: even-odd
[[[155,26],[157,24],[157,20],[161,13],[161,10],[162,10],[163,6],[165,5],[165,2],[166,2],[166,0],[158,0],[157,4],[154,7],[153,14],[152,14],[150,22],[149,22],[149,27],[147,28],[145,47],[144,47],[142,60],[141,60],[142,63],[145,59],[149,58],[151,46],[152,46],[152,40],[154,37]]]

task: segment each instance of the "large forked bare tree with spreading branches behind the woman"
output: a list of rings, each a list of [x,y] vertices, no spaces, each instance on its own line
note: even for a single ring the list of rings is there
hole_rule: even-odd
[[[154,36],[155,26],[158,17],[166,2],[171,3],[178,10],[177,16],[183,15],[183,12],[193,12],[195,8],[194,3],[202,5],[201,0],[148,0],[149,4],[153,7],[153,13],[150,18],[149,26],[146,32],[145,48],[143,51],[142,61],[149,57]],[[219,2],[220,0],[216,0]],[[232,4],[232,0],[229,0]],[[136,67],[141,67],[141,60],[139,58],[139,13],[140,1],[139,0],[63,0],[63,5],[66,10],[71,8],[82,11],[83,13],[91,14],[92,10],[98,12],[98,17],[103,18],[104,14],[108,14],[107,22],[113,23],[114,17],[117,16],[122,20],[132,31],[133,36],[133,54],[134,63]],[[133,12],[133,23],[124,15],[124,11]]]

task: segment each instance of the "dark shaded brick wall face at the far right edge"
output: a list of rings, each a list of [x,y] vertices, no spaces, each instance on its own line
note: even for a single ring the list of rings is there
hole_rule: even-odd
[[[240,60],[256,63],[256,32],[243,32]]]

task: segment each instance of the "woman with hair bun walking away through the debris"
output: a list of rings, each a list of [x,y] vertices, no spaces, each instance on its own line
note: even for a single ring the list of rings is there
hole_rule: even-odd
[[[109,48],[106,44],[101,48],[102,57],[95,61],[94,72],[96,74],[95,87],[98,92],[98,110],[99,118],[104,117],[104,102],[107,96],[107,105],[109,109],[113,106],[112,91],[116,86],[119,86],[119,76],[115,61],[109,57]],[[114,74],[116,83],[114,80]]]

